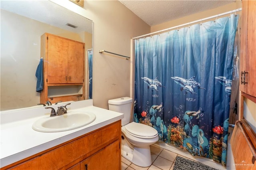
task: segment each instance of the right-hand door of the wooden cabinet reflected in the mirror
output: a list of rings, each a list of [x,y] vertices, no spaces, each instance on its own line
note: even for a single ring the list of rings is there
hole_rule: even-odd
[[[84,82],[84,44],[68,42],[68,83]]]

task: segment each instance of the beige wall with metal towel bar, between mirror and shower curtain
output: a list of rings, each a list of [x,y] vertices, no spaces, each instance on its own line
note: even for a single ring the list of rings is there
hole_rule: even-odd
[[[88,0],[84,8],[51,0],[93,21],[93,105],[108,109],[108,100],[130,97],[131,59],[99,50],[131,55],[130,40],[147,34],[150,26],[117,0]]]

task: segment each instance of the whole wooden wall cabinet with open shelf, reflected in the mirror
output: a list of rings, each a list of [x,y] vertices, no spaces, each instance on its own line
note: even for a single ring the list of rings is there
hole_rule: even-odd
[[[84,100],[85,93],[85,61],[84,43],[45,33],[41,36],[41,57],[44,59],[44,89],[40,93],[40,103],[51,101],[79,101]],[[79,94],[52,97],[48,89],[53,86],[82,87]]]

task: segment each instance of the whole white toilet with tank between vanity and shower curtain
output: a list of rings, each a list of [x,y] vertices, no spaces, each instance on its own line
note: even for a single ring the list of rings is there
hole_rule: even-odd
[[[158,141],[156,129],[141,123],[130,123],[132,98],[122,97],[108,101],[108,108],[124,114],[122,119],[122,156],[132,163],[147,167],[152,164],[150,145]]]

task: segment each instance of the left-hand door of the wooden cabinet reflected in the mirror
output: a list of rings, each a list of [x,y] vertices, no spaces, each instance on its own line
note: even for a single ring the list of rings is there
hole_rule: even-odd
[[[48,84],[66,83],[68,75],[68,40],[48,35]]]

